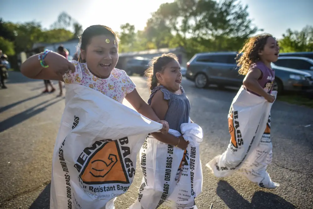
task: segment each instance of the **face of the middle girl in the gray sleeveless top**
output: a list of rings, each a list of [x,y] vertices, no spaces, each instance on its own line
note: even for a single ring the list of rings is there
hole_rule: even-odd
[[[156,73],[158,82],[165,86],[168,90],[176,92],[180,89],[182,83],[182,73],[180,71],[180,65],[176,60],[172,60],[164,66],[162,72]]]

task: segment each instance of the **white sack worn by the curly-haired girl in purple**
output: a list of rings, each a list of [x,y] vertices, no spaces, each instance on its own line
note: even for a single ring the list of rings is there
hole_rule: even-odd
[[[277,92],[272,94],[276,97]],[[239,171],[260,187],[278,186],[266,171],[272,158],[269,116],[272,105],[243,88],[238,91],[228,114],[231,135],[228,148],[206,165],[214,176],[221,178]]]

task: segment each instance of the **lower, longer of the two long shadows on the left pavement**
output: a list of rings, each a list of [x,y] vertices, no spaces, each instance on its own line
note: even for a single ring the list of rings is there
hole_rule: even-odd
[[[47,103],[49,101],[52,101],[54,99],[55,98],[46,100],[46,101],[44,101],[42,103],[39,103],[38,105],[35,105],[35,106],[33,106],[33,107],[31,107],[31,108],[29,108],[29,109],[27,109],[27,110],[17,114],[17,115],[14,115],[14,116],[6,119],[6,120],[3,120],[2,122],[0,122],[0,132],[2,132],[4,130],[7,130],[7,129],[13,127],[14,125],[17,125],[17,124],[23,122],[24,120],[27,120],[27,119],[33,117],[34,115],[37,115],[37,114],[43,112],[44,110],[46,110],[47,107],[49,107],[51,105],[54,105],[55,103],[63,100],[64,97],[62,97],[60,99],[57,99],[54,102],[49,103],[48,105],[45,105],[45,106],[43,106],[41,108],[38,108],[38,109],[34,110],[36,107],[38,107],[40,105],[44,105],[45,103]]]

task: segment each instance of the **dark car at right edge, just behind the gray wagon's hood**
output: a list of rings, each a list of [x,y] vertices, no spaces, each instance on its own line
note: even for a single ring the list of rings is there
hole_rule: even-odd
[[[285,68],[302,70],[311,75],[313,74],[313,59],[306,57],[279,57],[274,64]]]

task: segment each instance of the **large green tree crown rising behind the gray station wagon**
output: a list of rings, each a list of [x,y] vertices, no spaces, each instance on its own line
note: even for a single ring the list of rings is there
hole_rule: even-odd
[[[144,33],[157,48],[182,46],[192,56],[238,50],[257,30],[238,0],[175,0],[160,5]]]

